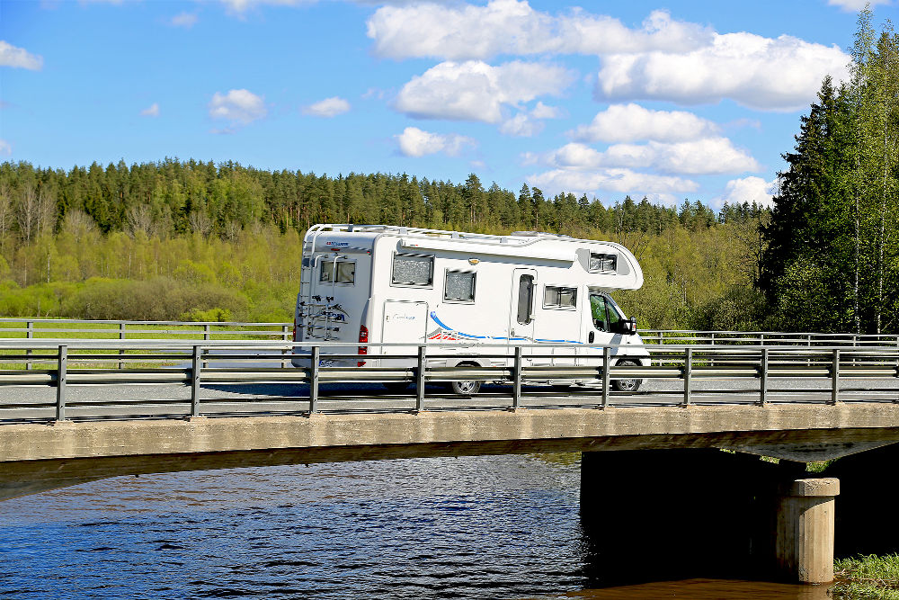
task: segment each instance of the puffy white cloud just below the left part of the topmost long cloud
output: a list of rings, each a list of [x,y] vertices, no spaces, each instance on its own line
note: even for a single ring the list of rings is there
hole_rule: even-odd
[[[573,79],[564,67],[543,63],[443,62],[404,85],[394,107],[415,118],[497,123],[503,121],[503,105],[559,94]]]

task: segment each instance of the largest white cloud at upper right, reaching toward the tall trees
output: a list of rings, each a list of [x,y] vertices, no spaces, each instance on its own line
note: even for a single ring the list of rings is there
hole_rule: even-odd
[[[711,45],[689,52],[602,58],[595,95],[688,104],[732,98],[755,109],[791,110],[814,99],[825,75],[845,77],[849,61],[839,48],[787,35],[716,34]]]

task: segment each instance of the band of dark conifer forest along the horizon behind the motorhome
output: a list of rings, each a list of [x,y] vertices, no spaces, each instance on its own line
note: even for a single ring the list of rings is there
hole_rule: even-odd
[[[29,245],[56,234],[66,219],[89,218],[103,234],[142,231],[148,237],[199,233],[234,240],[256,223],[302,232],[313,223],[391,223],[476,231],[543,230],[578,234],[653,231],[676,224],[696,229],[717,220],[751,219],[749,204],[716,214],[700,201],[681,207],[629,196],[612,206],[586,194],[498,184],[484,188],[475,174],[462,184],[409,175],[316,175],[268,171],[235,162],[214,164],[166,158],[128,166],[124,161],[62,169],[0,164],[0,243]],[[2,247],[0,247],[2,250]]]

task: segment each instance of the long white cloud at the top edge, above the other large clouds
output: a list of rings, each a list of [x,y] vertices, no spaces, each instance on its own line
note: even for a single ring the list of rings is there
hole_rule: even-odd
[[[381,57],[465,60],[501,54],[684,51],[706,43],[711,32],[672,20],[665,11],[650,13],[641,28],[630,29],[618,19],[581,9],[552,15],[535,11],[526,1],[492,0],[484,6],[383,6],[369,18],[368,35]]]

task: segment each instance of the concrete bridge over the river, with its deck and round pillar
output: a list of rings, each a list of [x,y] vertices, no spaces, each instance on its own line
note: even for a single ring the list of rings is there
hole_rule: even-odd
[[[728,560],[759,561],[789,578],[828,581],[832,578],[833,506],[834,497],[840,494],[839,483],[832,478],[810,478],[804,463],[849,454],[864,457],[866,452],[874,456],[880,451],[873,449],[899,442],[899,395],[894,387],[899,356],[895,350],[841,354],[825,348],[815,351],[823,353],[820,355],[806,350],[789,360],[785,355],[772,360],[777,352],[786,351],[762,348],[754,354],[745,350],[727,354],[716,349],[703,356],[694,348],[683,351],[680,365],[670,358],[677,349],[663,347],[662,352],[669,356],[669,363],[654,367],[616,371],[602,363],[571,368],[578,373],[594,369],[606,384],[616,374],[660,381],[661,388],[642,396],[616,395],[608,385],[601,385],[598,390],[534,392],[529,401],[527,390],[521,388],[529,367],[520,363],[469,368],[457,375],[422,367],[378,373],[387,381],[396,378],[417,383],[414,394],[396,397],[397,403],[379,409],[364,405],[365,412],[354,412],[352,399],[343,398],[343,404],[329,411],[321,408],[326,399],[318,398],[316,377],[334,380],[327,379],[326,368],[310,368],[289,373],[290,381],[311,385],[306,409],[273,414],[270,410],[259,412],[256,406],[256,411],[220,414],[209,412],[214,402],[201,398],[204,356],[194,349],[192,366],[182,370],[183,379],[179,379],[178,369],[163,373],[181,387],[189,383],[191,396],[182,402],[189,409],[184,416],[173,417],[171,411],[141,418],[85,412],[74,421],[43,418],[0,424],[0,499],[96,479],[167,471],[583,452],[585,524],[603,515],[594,508],[609,506],[614,500],[618,514],[614,523],[601,519],[603,532],[619,535],[625,547],[634,540],[652,547],[663,547],[656,543],[660,538],[680,539],[682,544],[699,540],[703,548],[715,549],[708,560],[726,556]],[[23,375],[30,379],[15,380],[56,390],[55,406],[48,404],[48,408],[55,407],[57,417],[62,414],[60,403],[71,414],[72,407],[65,403],[72,399],[59,390],[66,389],[73,375],[93,383],[98,377],[120,382],[147,377],[146,369],[118,369],[100,375],[96,370],[72,372],[66,364],[69,359],[60,348],[55,374],[31,370]],[[92,360],[121,362],[122,357],[110,354],[98,359],[93,355]],[[559,367],[554,376],[564,378],[565,368]],[[540,369],[541,376],[546,376],[547,368]],[[210,371],[219,376],[218,381],[236,377],[234,373],[226,377],[214,367]],[[237,372],[249,381],[260,381],[259,373],[263,373],[263,381],[277,381],[271,370],[244,368]],[[806,388],[815,381],[823,385],[793,390],[774,383],[778,378],[792,381],[800,376],[809,381]],[[16,374],[7,372],[7,377],[8,384]],[[423,385],[452,377],[505,378],[512,384],[511,402],[497,404],[495,396],[488,393],[485,405],[474,400],[456,405],[435,399]],[[752,385],[743,390],[716,390],[702,384],[713,381],[720,387],[721,381],[741,378]],[[679,394],[673,402],[672,390],[663,389],[666,385]],[[814,396],[814,392],[820,393]],[[79,402],[82,407],[104,404]],[[20,405],[11,404],[11,414],[17,414],[14,410]],[[255,406],[256,402],[247,401],[246,405]],[[208,416],[198,415],[204,406]],[[773,465],[753,454],[781,461]],[[842,493],[848,494],[845,486]],[[659,512],[660,506],[672,505],[681,506],[681,512]],[[654,518],[660,514],[665,518]],[[895,520],[891,517],[891,521]],[[627,527],[622,528],[625,523]],[[887,536],[893,534],[883,531]]]

